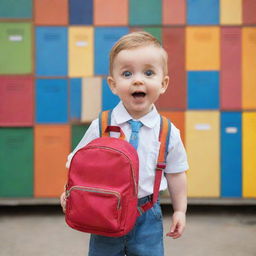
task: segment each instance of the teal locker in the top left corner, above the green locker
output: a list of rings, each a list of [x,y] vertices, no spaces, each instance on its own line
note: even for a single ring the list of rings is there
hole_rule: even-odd
[[[32,0],[1,0],[1,19],[31,19]]]

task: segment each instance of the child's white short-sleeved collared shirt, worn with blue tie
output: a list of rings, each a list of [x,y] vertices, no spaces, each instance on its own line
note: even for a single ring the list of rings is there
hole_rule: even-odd
[[[121,127],[126,140],[129,141],[131,135],[131,128],[127,121],[132,119],[122,102],[120,102],[112,111],[111,125]],[[155,106],[152,111],[139,119],[143,126],[139,132],[139,195],[138,197],[144,197],[153,193],[154,179],[155,179],[155,167],[157,163],[160,142],[158,141],[160,130],[160,115],[157,112]],[[119,134],[111,133],[111,137],[118,137]],[[75,152],[87,145],[92,140],[99,137],[99,120],[95,119],[82,140],[77,147],[68,156],[67,168],[69,168],[70,161]],[[180,131],[173,125],[171,125],[171,134],[168,145],[168,155],[166,159],[165,173],[178,173],[188,170],[187,155],[184,149],[183,143],[180,138]],[[160,190],[167,188],[167,181],[163,175]]]

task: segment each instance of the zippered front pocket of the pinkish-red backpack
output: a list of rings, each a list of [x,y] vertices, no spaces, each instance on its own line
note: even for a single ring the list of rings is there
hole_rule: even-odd
[[[73,186],[67,191],[68,219],[81,227],[116,232],[121,195],[109,189]]]

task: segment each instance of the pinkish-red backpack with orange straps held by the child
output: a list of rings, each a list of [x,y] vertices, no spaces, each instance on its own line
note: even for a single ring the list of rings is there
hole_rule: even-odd
[[[66,222],[76,230],[119,237],[127,234],[136,219],[158,199],[170,122],[161,117],[161,142],[154,194],[151,202],[138,207],[139,159],[120,127],[109,126],[111,112],[100,115],[102,136],[73,156],[66,185]],[[119,132],[119,138],[109,137]]]

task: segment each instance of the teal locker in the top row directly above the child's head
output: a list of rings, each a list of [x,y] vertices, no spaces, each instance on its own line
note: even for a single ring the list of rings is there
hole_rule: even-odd
[[[161,25],[162,1],[158,0],[130,0],[129,24],[136,25]]]

